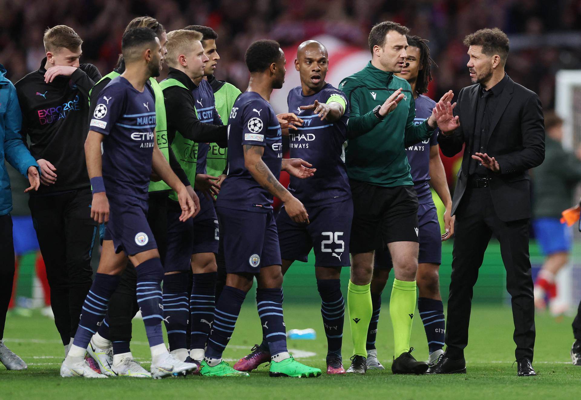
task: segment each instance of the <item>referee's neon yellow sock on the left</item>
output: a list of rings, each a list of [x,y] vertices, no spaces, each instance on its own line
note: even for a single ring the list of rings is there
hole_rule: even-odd
[[[371,305],[371,283],[358,285],[349,280],[347,308],[353,338],[353,355],[367,357],[367,330],[373,313]]]

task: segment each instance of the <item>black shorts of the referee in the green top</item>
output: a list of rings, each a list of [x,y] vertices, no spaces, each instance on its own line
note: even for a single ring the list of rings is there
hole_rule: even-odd
[[[349,179],[353,224],[349,250],[368,253],[393,242],[419,242],[418,196],[413,186],[383,186]]]

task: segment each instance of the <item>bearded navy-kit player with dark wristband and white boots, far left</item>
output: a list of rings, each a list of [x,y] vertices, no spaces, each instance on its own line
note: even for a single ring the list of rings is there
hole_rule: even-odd
[[[187,221],[195,211],[188,190],[157,146],[155,95],[146,82],[159,76],[162,46],[151,29],[134,28],[123,35],[121,51],[125,71],[99,93],[85,142],[93,192],[91,217],[99,224],[107,222],[107,230],[80,329],[60,367],[62,377],[106,377],[94,372],[84,358],[127,260],[137,272],[137,302],[151,349],[152,377],[197,370],[196,365],[174,358],[163,343],[163,267],[146,218],[152,172],[178,193],[180,221]]]

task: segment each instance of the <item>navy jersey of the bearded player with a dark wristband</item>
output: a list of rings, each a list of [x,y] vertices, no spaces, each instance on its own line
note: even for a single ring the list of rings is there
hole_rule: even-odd
[[[89,129],[103,140],[103,181],[108,193],[148,199],[155,145],[155,96],[124,77],[116,77],[99,93]]]

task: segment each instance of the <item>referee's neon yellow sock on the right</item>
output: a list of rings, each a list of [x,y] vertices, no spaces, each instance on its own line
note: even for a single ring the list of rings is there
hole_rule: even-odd
[[[389,300],[389,316],[393,326],[393,350],[397,358],[410,351],[411,325],[415,312],[415,280],[393,280],[392,297]]]

